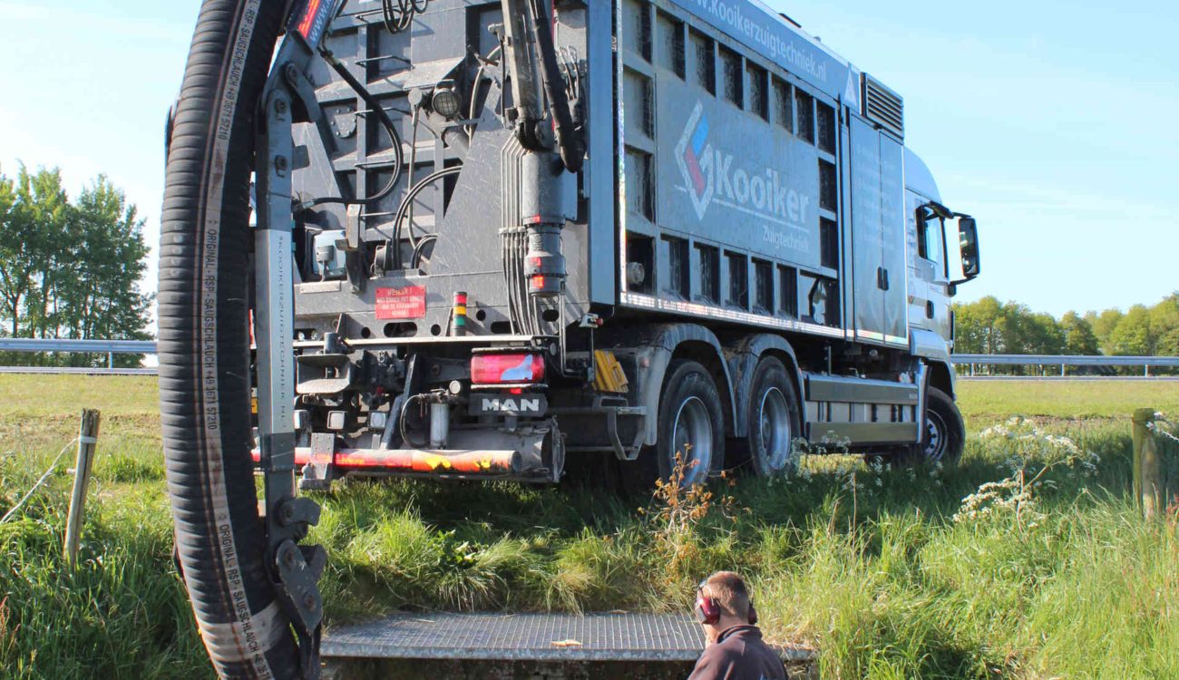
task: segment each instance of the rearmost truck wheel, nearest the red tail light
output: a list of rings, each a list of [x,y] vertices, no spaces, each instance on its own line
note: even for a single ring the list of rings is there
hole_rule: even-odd
[[[683,484],[702,483],[723,463],[724,448],[720,394],[712,376],[697,362],[672,362],[659,400],[659,442],[653,451],[659,477],[671,478],[679,454],[684,463]]]

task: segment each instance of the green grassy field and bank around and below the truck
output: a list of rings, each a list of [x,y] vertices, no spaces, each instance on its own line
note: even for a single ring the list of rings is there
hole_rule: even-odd
[[[812,456],[772,486],[637,501],[341,484],[312,535],[331,554],[330,620],[686,609],[702,575],[737,568],[768,635],[817,646],[828,679],[1179,678],[1179,540],[1128,497],[1128,412],[1179,414],[1174,383],[960,387],[970,436],[954,470]],[[153,379],[0,376],[0,514],[84,405],[104,420],[83,560],[60,557],[67,450],[0,524],[0,674],[209,676],[171,561]]]

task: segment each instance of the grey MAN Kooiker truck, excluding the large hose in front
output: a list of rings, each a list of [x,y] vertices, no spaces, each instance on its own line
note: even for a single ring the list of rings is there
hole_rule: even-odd
[[[304,487],[641,487],[677,456],[684,483],[773,476],[799,440],[956,460],[950,298],[977,239],[898,94],[757,2],[558,1],[572,171],[518,134],[545,88],[522,92],[500,2],[435,0],[396,32],[364,12],[325,45],[373,103],[323,64],[327,124],[295,131]]]

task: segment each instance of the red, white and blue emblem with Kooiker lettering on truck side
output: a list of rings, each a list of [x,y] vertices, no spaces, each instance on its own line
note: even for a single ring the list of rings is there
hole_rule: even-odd
[[[805,231],[811,197],[790,189],[772,167],[733,167],[735,157],[709,141],[709,118],[699,101],[676,145],[676,163],[696,216],[704,219],[716,203],[768,222]],[[784,159],[783,159],[784,160]]]

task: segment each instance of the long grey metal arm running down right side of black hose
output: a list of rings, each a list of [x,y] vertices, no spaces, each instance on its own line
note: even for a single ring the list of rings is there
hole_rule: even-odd
[[[265,494],[266,555],[277,600],[298,639],[305,679],[320,676],[323,602],[316,581],[328,554],[320,546],[298,546],[320,520],[318,506],[296,495],[292,125],[322,117],[315,90],[304,73],[314,53],[288,39],[263,90],[256,143],[257,206],[255,230],[255,336],[258,372],[259,461]],[[314,442],[312,442],[314,444]]]

